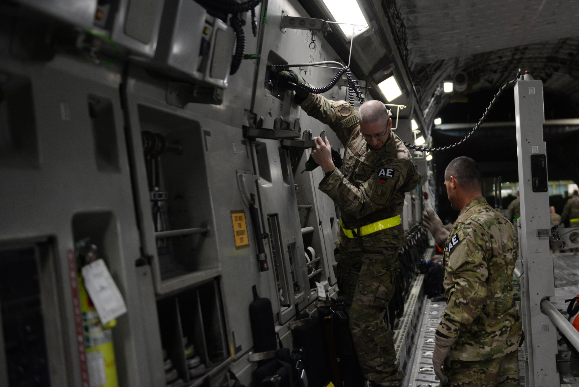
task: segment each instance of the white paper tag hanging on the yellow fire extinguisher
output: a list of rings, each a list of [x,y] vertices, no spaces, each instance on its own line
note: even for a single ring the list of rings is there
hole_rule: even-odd
[[[82,278],[102,324],[127,312],[123,296],[102,259],[84,266]]]

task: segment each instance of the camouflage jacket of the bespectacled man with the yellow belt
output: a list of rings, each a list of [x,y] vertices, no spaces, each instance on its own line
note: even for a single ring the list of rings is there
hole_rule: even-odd
[[[390,132],[386,144],[372,151],[360,136],[356,109],[346,101],[310,94],[300,105],[308,115],[334,130],[346,148],[342,170],[335,169],[318,186],[340,207],[344,227],[357,229],[402,214],[404,193],[416,188],[420,175],[400,138]],[[362,238],[347,238],[339,227],[339,240],[349,251],[400,247],[404,228],[397,225]]]

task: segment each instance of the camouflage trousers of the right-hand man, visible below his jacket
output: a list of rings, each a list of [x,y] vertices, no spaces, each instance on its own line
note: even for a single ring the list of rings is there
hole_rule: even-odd
[[[445,374],[445,387],[521,387],[519,351],[478,362],[453,360]]]

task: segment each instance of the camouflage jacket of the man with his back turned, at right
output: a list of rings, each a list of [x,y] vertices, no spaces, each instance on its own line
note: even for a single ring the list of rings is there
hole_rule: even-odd
[[[440,333],[458,337],[451,360],[488,360],[518,349],[522,324],[513,300],[514,233],[485,198],[460,211],[444,251],[447,305],[438,325]]]

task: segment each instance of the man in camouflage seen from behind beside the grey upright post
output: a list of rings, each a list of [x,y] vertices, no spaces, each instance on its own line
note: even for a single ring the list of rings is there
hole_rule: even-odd
[[[474,160],[463,156],[450,162],[445,184],[460,214],[444,251],[447,305],[435,334],[435,373],[442,385],[520,386],[514,226],[482,197]],[[450,365],[443,372],[445,360]]]

